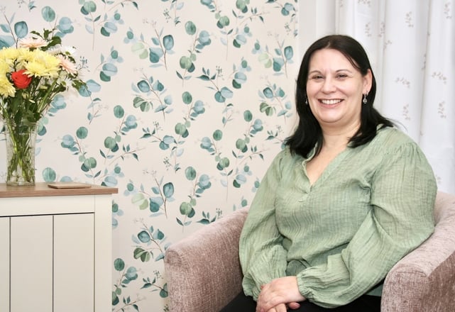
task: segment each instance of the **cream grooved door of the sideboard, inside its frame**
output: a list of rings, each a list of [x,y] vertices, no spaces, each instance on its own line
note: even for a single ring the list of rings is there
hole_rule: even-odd
[[[0,218],[0,244],[11,242],[0,263],[11,265],[11,312],[94,311],[94,213],[11,217],[11,236],[9,220]]]

